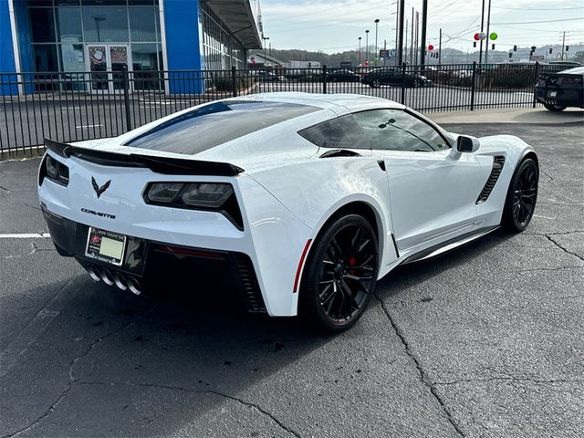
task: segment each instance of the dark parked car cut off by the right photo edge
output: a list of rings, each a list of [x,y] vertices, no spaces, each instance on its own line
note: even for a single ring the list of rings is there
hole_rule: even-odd
[[[536,99],[550,111],[563,111],[568,107],[584,108],[583,84],[584,67],[542,73],[537,77]]]

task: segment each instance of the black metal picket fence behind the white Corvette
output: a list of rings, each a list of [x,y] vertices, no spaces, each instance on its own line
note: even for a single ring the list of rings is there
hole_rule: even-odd
[[[535,107],[533,85],[550,67],[0,73],[0,158],[43,151],[45,137],[66,142],[113,137],[203,102],[263,92],[362,94],[422,112]]]

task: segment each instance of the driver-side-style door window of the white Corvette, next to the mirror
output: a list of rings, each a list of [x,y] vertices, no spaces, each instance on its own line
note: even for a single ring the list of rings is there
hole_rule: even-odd
[[[403,110],[370,110],[353,114],[373,144],[384,151],[443,151],[448,143],[426,122]]]

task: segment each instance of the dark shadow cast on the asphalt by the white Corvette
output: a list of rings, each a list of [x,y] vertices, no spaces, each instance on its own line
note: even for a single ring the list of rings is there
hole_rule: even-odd
[[[379,297],[407,294],[508,236],[495,233],[432,262],[401,266],[381,280]],[[364,322],[328,336],[301,319],[248,315],[212,283],[180,293],[160,290],[156,297],[136,297],[87,276],[74,278],[71,287],[48,287],[62,290],[67,304],[38,333],[42,344],[26,350],[5,376],[8,396],[0,404],[14,430],[26,425],[21,412],[40,416],[52,406],[37,433],[75,434],[76,423],[89,434],[129,435],[136,424],[142,436],[180,434],[187,425],[196,432],[209,415],[233,409],[234,403],[260,404],[266,393],[286,389],[282,379],[302,380],[297,370],[311,370],[311,363],[318,362],[318,372],[334,370],[342,353],[327,351],[349,351],[370,334]],[[22,393],[29,394],[26,402],[15,404]]]

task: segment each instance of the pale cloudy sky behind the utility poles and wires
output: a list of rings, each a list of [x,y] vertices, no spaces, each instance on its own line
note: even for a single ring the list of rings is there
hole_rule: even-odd
[[[257,0],[255,0],[257,1]],[[380,20],[378,46],[395,46],[395,0],[259,0],[264,35],[272,47],[302,48],[336,53],[357,49],[359,36],[365,46],[375,45],[374,20]],[[480,31],[483,0],[429,0],[427,41],[438,45],[443,29],[443,48],[474,51],[473,36]],[[485,0],[485,31],[487,5]],[[405,2],[405,19],[412,21],[412,7],[422,21],[422,0]],[[562,43],[584,43],[584,2],[581,0],[492,0],[490,32],[497,34],[497,50],[518,47],[544,47]],[[420,24],[420,33],[422,26]],[[266,44],[266,45],[267,45]]]

